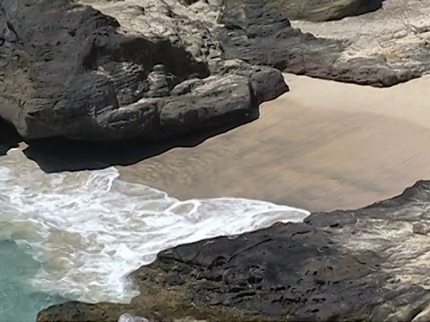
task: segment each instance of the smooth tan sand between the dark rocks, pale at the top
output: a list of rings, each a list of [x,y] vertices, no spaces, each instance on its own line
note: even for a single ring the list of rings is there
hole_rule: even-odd
[[[286,75],[260,118],[172,148],[122,178],[179,199],[245,197],[311,211],[359,208],[430,178],[430,78],[374,89]]]

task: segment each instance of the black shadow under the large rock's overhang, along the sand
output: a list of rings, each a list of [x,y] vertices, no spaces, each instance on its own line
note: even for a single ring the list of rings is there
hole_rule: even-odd
[[[249,123],[258,118],[254,115],[251,120],[214,131],[183,136],[177,140],[145,142],[142,140],[91,142],[66,140],[62,138],[44,140],[22,140],[13,126],[0,120],[0,155],[10,148],[15,148],[20,142],[27,147],[23,153],[35,161],[46,173],[63,171],[97,170],[111,165],[133,165],[148,157],[154,157],[171,148],[191,148],[199,145],[215,135],[230,131],[239,125]]]

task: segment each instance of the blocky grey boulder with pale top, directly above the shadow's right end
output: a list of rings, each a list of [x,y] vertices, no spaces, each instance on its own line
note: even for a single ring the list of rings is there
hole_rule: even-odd
[[[193,88],[191,94],[167,97],[160,103],[163,137],[217,129],[258,116],[254,89],[250,80],[242,76],[211,77]]]

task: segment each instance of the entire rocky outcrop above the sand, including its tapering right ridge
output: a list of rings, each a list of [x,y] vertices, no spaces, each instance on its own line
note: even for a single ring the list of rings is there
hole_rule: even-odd
[[[259,103],[288,90],[279,71],[373,86],[421,74],[377,59],[345,61],[344,41],[291,28],[287,12],[298,3],[4,0],[0,117],[27,140],[158,141],[253,120]]]

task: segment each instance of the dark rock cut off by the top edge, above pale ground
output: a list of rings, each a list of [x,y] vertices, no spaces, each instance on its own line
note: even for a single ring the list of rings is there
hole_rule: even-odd
[[[332,21],[370,13],[383,6],[383,0],[266,0],[291,20]]]

